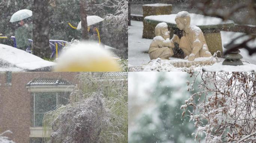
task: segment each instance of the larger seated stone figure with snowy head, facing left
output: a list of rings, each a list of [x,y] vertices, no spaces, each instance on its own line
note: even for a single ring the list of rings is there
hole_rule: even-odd
[[[198,57],[211,57],[204,34],[201,29],[195,25],[190,25],[190,16],[188,12],[177,13],[175,22],[177,28],[183,30],[183,36],[180,38],[179,48],[185,54],[185,59],[193,61]]]

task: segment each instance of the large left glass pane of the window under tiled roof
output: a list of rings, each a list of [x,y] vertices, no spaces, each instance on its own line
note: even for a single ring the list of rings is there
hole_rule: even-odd
[[[43,115],[56,107],[56,92],[35,93],[35,126],[41,127]]]

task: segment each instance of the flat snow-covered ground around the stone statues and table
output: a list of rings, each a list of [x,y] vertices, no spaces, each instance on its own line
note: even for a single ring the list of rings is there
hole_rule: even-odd
[[[139,21],[131,21],[131,25],[129,26],[128,29],[128,46],[129,46],[129,51],[128,51],[128,64],[129,67],[132,66],[141,66],[142,64],[147,64],[150,61],[149,54],[147,53],[147,50],[149,49],[149,45],[152,41],[152,39],[143,39],[142,38],[142,32],[143,32],[143,22]],[[232,39],[234,39],[237,36],[242,35],[243,33],[239,32],[226,32],[226,31],[221,31],[221,36],[222,36],[222,44],[228,44]],[[237,42],[241,42],[243,39],[238,39]],[[256,41],[251,42],[250,45],[256,45]],[[223,51],[225,49],[223,48]],[[253,54],[252,56],[248,55],[248,51],[245,49],[241,49],[241,55],[243,56],[243,60],[249,61],[250,65],[247,64],[247,71],[251,70],[256,70],[256,54]],[[170,58],[172,59],[177,59],[177,58]],[[220,62],[222,62],[224,59],[219,58]],[[152,65],[152,64],[151,64]],[[143,71],[148,71],[150,69],[150,65],[147,67],[144,65],[144,67],[147,68],[147,70]],[[191,67],[191,68],[176,68],[172,67],[169,68],[171,71],[201,71],[202,66],[199,67]],[[222,67],[219,67],[222,68]],[[242,69],[239,68],[239,66],[236,69]],[[153,70],[154,71],[154,70]]]

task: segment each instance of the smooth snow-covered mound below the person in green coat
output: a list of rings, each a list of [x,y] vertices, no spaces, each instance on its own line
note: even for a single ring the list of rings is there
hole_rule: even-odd
[[[56,63],[0,44],[0,71],[49,71]]]

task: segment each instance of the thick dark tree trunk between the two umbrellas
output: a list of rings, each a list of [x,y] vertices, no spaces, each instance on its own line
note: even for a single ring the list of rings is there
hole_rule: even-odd
[[[33,3],[33,54],[49,58],[49,15],[48,0],[34,0]]]

